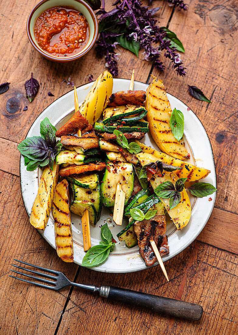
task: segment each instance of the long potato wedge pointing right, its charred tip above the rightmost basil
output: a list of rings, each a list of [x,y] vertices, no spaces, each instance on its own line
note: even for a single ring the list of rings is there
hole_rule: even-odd
[[[135,140],[135,142],[143,150],[143,152],[138,154],[140,159],[143,158],[144,160],[148,161],[148,163],[160,160],[161,162],[168,165],[182,167],[182,169],[174,171],[175,175],[178,178],[187,178],[188,182],[195,182],[196,180],[207,177],[210,173],[210,170],[204,169],[203,167],[198,167],[188,162],[183,162],[180,159],[168,156],[166,155],[166,153],[158,152],[155,149],[150,148],[143,143],[140,143],[139,141]]]

